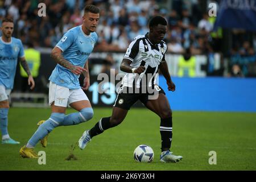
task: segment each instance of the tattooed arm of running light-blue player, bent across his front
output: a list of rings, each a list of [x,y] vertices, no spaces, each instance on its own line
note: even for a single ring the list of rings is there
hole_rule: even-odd
[[[60,64],[61,66],[69,69],[72,73],[76,75],[81,75],[83,71],[86,71],[86,69],[79,66],[75,66],[71,64],[68,60],[65,60],[64,57],[61,55],[61,53],[62,51],[58,47],[54,47],[52,49],[51,57],[53,60],[56,61],[57,64]]]

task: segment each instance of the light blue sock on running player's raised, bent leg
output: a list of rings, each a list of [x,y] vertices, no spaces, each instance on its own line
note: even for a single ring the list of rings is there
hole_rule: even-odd
[[[93,117],[92,107],[85,107],[78,113],[65,115],[64,121],[59,126],[77,125],[79,123],[89,121]]]

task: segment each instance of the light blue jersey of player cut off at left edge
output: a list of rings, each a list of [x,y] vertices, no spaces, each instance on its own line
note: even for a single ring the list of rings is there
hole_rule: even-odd
[[[0,85],[13,89],[18,57],[24,57],[24,49],[19,39],[11,38],[11,42],[3,42],[0,37]]]

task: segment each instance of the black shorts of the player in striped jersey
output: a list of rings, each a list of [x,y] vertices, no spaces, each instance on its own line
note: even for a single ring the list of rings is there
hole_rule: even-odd
[[[151,89],[150,92],[142,89],[135,92],[133,88],[121,86],[117,98],[115,99],[114,107],[129,110],[138,100],[146,105],[148,100],[157,99],[160,93],[163,93],[164,95],[166,94],[158,85],[155,85],[154,89]]]

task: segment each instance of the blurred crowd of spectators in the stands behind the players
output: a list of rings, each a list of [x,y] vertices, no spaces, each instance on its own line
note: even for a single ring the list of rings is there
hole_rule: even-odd
[[[46,4],[46,16],[38,16],[38,4]],[[148,32],[148,20],[154,15],[162,15],[168,21],[168,32],[164,41],[169,53],[185,53],[190,49],[192,55],[211,55],[221,52],[223,30],[213,31],[215,17],[209,17],[207,7],[203,9],[201,0],[0,0],[0,23],[5,16],[14,19],[14,36],[23,44],[32,42],[35,47],[52,48],[70,28],[82,23],[84,6],[94,4],[101,9],[100,23],[97,27],[98,42],[94,51],[124,52],[137,35]],[[218,6],[220,1],[207,0]],[[1,34],[1,32],[0,32]],[[255,36],[254,36],[254,40]],[[241,40],[240,45],[229,50],[230,76],[231,64],[246,68],[238,63],[239,56],[254,55],[255,45]],[[248,42],[248,41],[247,41]],[[241,59],[239,59],[241,61]],[[250,59],[252,61],[253,58]],[[246,60],[248,61],[248,60]],[[245,64],[247,65],[247,63]]]

